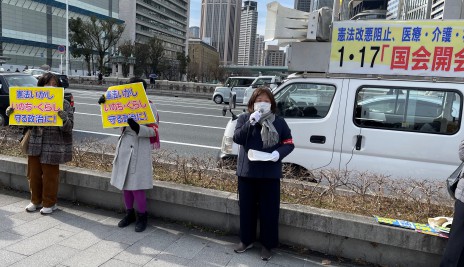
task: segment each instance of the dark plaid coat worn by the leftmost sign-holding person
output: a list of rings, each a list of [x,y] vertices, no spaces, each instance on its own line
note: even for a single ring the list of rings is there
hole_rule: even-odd
[[[42,164],[62,164],[72,160],[74,113],[68,101],[63,103],[68,120],[62,127],[32,127],[28,156],[40,156]]]

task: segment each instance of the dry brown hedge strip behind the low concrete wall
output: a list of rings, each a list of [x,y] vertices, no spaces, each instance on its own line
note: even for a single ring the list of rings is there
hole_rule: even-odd
[[[18,131],[0,130],[0,153],[24,156],[19,151]],[[69,165],[111,171],[114,145],[84,140],[74,145]],[[154,179],[210,188],[237,191],[235,165],[221,165],[212,158],[180,157],[174,152],[153,153]],[[426,223],[427,218],[451,216],[453,201],[444,181],[392,179],[375,173],[323,170],[308,173],[284,168],[281,200],[359,215],[377,215]],[[308,182],[312,181],[312,182]]]

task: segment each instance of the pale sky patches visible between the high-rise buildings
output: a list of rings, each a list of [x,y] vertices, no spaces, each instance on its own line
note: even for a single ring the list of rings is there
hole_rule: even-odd
[[[275,0],[256,0],[258,2],[258,29],[257,33],[264,35],[264,27],[266,25],[266,5]],[[285,7],[293,8],[294,0],[279,0],[279,3]],[[243,3],[243,0],[242,0]],[[242,4],[243,5],[243,4]],[[201,0],[190,0],[190,25],[200,26],[200,17],[201,17]]]

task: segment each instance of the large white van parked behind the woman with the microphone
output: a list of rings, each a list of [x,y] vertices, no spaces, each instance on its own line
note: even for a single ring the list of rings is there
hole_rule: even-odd
[[[442,179],[459,165],[464,83],[325,75],[274,90],[295,144],[284,162],[417,179]],[[227,124],[221,158],[237,155],[235,124]]]

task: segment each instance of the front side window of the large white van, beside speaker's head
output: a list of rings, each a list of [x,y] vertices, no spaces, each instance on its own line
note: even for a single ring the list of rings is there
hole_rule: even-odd
[[[335,86],[292,83],[276,95],[277,114],[285,118],[322,119],[329,113]]]

